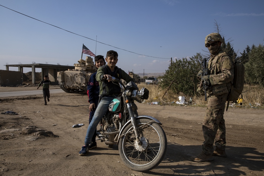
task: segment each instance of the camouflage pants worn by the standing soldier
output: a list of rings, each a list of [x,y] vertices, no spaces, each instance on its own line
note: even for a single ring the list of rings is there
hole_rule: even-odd
[[[204,142],[202,150],[206,155],[213,154],[214,140],[215,146],[220,150],[225,150],[225,120],[224,110],[228,94],[211,96],[208,99],[206,115],[202,124]]]

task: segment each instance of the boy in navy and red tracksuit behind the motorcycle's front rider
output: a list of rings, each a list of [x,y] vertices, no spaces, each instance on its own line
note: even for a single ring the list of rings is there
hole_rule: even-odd
[[[105,59],[102,55],[95,56],[95,66],[98,69],[100,66],[105,65]],[[89,110],[90,110],[90,115],[89,115],[89,124],[92,121],[93,115],[95,114],[95,110],[98,105],[99,101],[99,93],[100,93],[100,87],[99,87],[99,82],[96,81],[96,73],[93,73],[90,77],[90,80],[87,85],[87,94],[89,97],[88,102],[90,103]],[[87,129],[88,131],[88,129]],[[87,135],[87,134],[86,134]],[[96,141],[96,129],[95,133],[93,134],[91,144],[89,144],[89,149],[93,149],[97,147]]]

